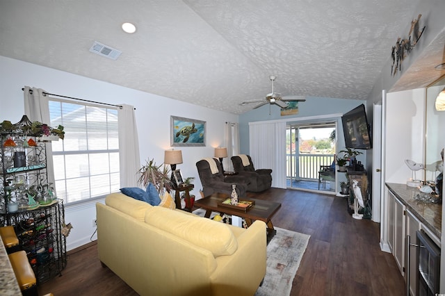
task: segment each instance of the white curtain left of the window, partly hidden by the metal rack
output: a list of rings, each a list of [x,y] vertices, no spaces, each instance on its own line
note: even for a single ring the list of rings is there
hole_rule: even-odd
[[[44,92],[45,91],[41,88],[30,88],[29,86],[25,86],[23,90],[25,114],[31,122],[41,122],[51,125],[48,106],[49,97],[47,94],[44,94]],[[46,153],[48,182],[54,185],[54,162],[51,145],[47,145]],[[56,188],[56,186],[54,186],[54,188]]]

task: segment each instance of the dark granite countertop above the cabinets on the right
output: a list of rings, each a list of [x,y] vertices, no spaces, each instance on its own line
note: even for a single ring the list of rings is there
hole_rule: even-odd
[[[420,192],[419,188],[406,184],[386,183],[387,188],[406,206],[406,208],[425,224],[440,239],[442,234],[442,204],[432,204],[414,199]]]

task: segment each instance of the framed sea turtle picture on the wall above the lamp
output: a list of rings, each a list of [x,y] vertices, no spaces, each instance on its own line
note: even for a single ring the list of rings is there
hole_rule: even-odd
[[[171,146],[205,146],[206,122],[170,116]]]

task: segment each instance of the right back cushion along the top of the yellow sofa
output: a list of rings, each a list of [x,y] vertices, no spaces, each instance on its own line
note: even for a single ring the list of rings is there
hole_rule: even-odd
[[[229,227],[207,218],[155,206],[152,211],[147,211],[145,223],[208,249],[214,257],[232,255],[238,249],[238,242]]]

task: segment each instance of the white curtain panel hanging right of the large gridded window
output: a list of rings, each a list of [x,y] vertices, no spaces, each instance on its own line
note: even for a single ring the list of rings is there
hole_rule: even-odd
[[[138,129],[134,107],[118,108],[120,187],[136,187],[140,169]]]

